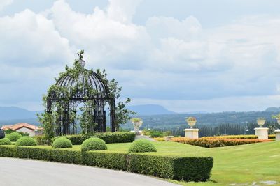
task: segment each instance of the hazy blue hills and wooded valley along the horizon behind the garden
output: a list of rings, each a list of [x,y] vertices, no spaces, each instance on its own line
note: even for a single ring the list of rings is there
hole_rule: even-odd
[[[279,113],[280,108],[269,107],[265,111],[247,111],[247,112],[221,112],[221,113],[193,113],[176,114],[160,105],[145,104],[128,107],[136,111],[137,117],[143,119],[144,128],[171,130],[186,127],[185,118],[194,116],[197,118],[197,125],[220,125],[223,123],[235,123],[244,125],[253,123],[257,118],[264,117],[267,121],[275,121],[272,115]],[[0,107],[0,127],[1,125],[11,125],[20,122],[39,125],[36,114],[42,111],[28,111],[19,107]],[[129,121],[123,125],[125,129],[132,129],[132,123]]]

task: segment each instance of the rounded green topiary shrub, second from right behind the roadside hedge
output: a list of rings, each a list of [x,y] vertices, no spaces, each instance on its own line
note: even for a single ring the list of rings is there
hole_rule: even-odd
[[[98,137],[91,137],[83,141],[81,150],[107,150],[107,146],[103,139],[100,139]]]

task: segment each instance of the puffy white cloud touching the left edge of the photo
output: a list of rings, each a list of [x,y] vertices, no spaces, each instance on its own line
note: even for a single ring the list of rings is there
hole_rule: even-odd
[[[49,66],[71,56],[52,21],[31,10],[0,17],[0,38],[0,60],[11,66]]]

